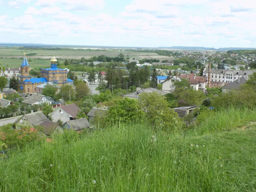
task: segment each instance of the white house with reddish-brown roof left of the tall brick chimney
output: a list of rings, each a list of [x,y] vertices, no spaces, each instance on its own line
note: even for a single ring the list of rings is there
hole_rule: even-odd
[[[195,90],[205,91],[207,85],[207,78],[204,76],[197,76],[195,73],[178,76],[180,79],[187,79],[191,87]]]

